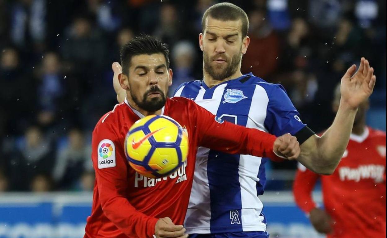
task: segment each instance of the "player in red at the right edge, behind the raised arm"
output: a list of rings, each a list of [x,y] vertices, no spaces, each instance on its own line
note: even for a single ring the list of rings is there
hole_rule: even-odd
[[[334,110],[340,101],[335,91]],[[293,192],[315,229],[328,238],[385,238],[385,132],[365,125],[368,101],[359,106],[348,147],[335,172],[319,176],[300,165]],[[321,178],[325,208],[317,208],[312,190]]]

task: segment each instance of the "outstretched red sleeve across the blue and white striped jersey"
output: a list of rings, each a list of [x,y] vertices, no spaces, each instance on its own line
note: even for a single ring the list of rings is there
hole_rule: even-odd
[[[209,111],[196,103],[195,107],[199,146],[228,154],[248,154],[283,161],[273,151],[276,136],[225,121],[218,122]]]

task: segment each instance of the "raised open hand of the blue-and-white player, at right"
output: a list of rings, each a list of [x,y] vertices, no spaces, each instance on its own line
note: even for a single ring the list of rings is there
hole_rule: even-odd
[[[373,75],[373,68],[370,62],[364,57],[360,60],[359,70],[356,65],[349,67],[341,78],[341,101],[347,103],[353,109],[358,108],[360,103],[368,99],[375,86],[376,76]]]

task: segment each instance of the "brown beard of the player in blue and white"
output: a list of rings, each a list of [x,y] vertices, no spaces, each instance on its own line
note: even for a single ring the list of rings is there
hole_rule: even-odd
[[[203,51],[203,60],[204,60],[204,70],[207,72],[214,80],[223,80],[225,78],[229,78],[231,75],[233,75],[236,70],[238,69],[238,66],[241,61],[241,53],[235,54],[233,57],[231,57],[231,61],[227,60],[226,68],[223,69],[221,72],[216,72],[214,69],[216,66],[212,66],[211,63],[218,59],[220,54],[217,54],[210,58],[210,56]]]

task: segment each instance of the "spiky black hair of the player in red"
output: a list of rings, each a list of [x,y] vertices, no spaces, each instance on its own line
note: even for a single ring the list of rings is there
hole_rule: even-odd
[[[158,54],[161,53],[165,57],[166,66],[169,68],[170,60],[168,45],[161,42],[159,39],[152,37],[151,35],[137,35],[128,43],[126,43],[120,50],[122,72],[126,75],[129,74],[128,69],[130,67],[130,61],[133,56],[140,54]]]

